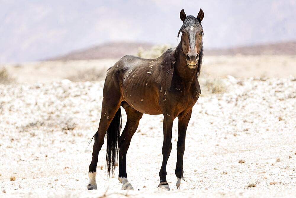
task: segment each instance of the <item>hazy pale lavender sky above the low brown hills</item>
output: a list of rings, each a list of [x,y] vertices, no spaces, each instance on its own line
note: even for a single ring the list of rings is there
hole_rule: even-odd
[[[296,1],[0,0],[0,62],[111,41],[177,44],[180,10],[205,17],[205,48],[296,40]]]

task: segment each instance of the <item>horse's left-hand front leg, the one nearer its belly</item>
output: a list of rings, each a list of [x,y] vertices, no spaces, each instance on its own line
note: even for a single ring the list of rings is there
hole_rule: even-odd
[[[163,117],[163,163],[161,165],[161,169],[159,172],[160,183],[158,188],[162,188],[165,190],[170,190],[168,186],[168,182],[166,180],[166,165],[168,162],[168,158],[170,157],[170,151],[172,150],[172,129],[173,129],[173,116],[168,114]]]

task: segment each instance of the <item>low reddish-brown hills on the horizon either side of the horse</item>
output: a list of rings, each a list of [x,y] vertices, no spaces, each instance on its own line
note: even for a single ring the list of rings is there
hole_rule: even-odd
[[[137,42],[110,42],[102,45],[89,47],[82,50],[74,50],[61,56],[52,57],[49,61],[90,60],[115,58],[124,55],[137,55],[139,47],[142,50],[150,50],[152,44]],[[217,55],[296,55],[296,42],[280,42],[265,45],[251,45],[231,47],[226,49],[205,50],[205,56]]]

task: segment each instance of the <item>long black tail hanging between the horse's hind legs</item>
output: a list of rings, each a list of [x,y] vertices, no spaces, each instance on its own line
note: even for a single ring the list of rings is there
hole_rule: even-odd
[[[118,139],[121,132],[121,110],[120,107],[116,112],[113,120],[107,129],[107,153],[106,153],[106,167],[108,176],[110,171],[114,174],[115,165],[118,157]]]

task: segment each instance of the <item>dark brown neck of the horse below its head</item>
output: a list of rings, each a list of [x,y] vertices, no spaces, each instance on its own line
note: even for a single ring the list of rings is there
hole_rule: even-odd
[[[196,74],[197,74],[197,67],[194,69],[190,69],[187,66],[187,61],[185,58],[185,54],[182,50],[182,43],[180,42],[179,45],[176,47],[176,64],[175,64],[175,72],[178,78],[182,80],[185,84],[186,89],[189,89],[192,84],[195,83],[195,80],[197,80]]]

